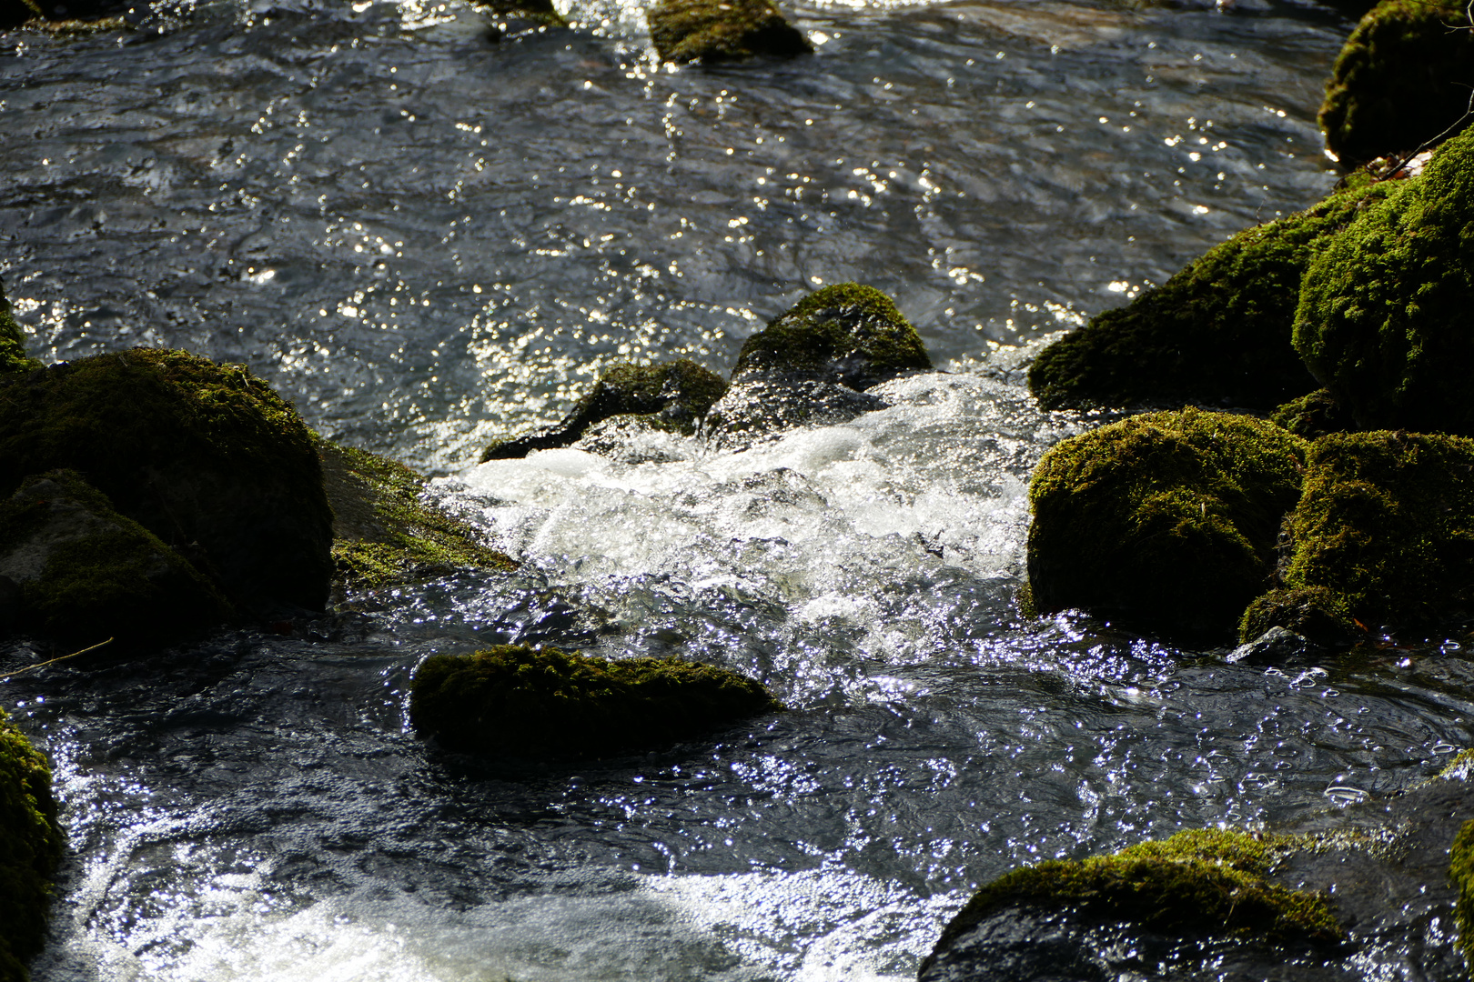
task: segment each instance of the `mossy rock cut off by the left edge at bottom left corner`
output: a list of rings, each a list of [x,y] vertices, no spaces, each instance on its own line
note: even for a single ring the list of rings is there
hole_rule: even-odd
[[[46,941],[52,877],[65,839],[52,769],[0,711],[0,979],[25,982]]]

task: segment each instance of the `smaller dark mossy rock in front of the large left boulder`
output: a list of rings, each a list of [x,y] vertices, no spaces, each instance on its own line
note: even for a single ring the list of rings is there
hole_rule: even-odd
[[[22,627],[77,643],[168,642],[231,617],[214,583],[75,471],[0,502],[0,576],[21,587]]]

